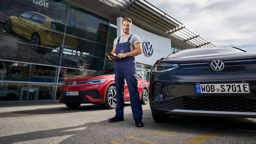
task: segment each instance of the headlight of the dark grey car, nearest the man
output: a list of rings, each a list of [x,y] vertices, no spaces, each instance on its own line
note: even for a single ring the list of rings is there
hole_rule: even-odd
[[[168,64],[168,63],[159,63],[159,64],[154,64],[152,67],[151,72],[152,73],[164,73],[176,68],[180,68],[179,65],[177,64]]]

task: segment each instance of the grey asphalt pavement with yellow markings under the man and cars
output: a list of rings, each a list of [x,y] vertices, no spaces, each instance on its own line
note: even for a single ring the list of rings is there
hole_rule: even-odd
[[[0,105],[0,143],[256,143],[256,119],[171,116],[156,123],[149,104],[142,108],[144,127],[135,127],[129,102],[124,121],[116,123],[108,122],[115,109],[93,104]]]

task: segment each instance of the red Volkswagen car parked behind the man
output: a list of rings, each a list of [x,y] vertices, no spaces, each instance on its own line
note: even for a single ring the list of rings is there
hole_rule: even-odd
[[[141,104],[148,103],[148,82],[138,74],[138,91]],[[125,81],[124,101],[130,101]],[[68,78],[60,88],[59,102],[68,108],[77,108],[81,103],[104,105],[108,109],[116,108],[116,87],[114,69],[96,71],[85,77]]]

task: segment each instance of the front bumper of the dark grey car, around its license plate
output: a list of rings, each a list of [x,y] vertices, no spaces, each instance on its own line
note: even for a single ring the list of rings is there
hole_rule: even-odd
[[[249,83],[249,94],[196,94],[196,84]],[[256,118],[256,79],[186,82],[153,81],[150,108],[163,115],[198,115]]]

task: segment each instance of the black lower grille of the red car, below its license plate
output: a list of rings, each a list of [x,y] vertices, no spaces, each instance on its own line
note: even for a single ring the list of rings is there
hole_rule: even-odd
[[[100,94],[99,91],[97,90],[90,90],[90,91],[79,91],[78,96],[66,96],[66,92],[60,91],[60,95],[62,95],[62,99],[60,100],[61,102],[67,101],[89,101],[85,95],[89,95],[90,97],[94,99],[100,99]]]

